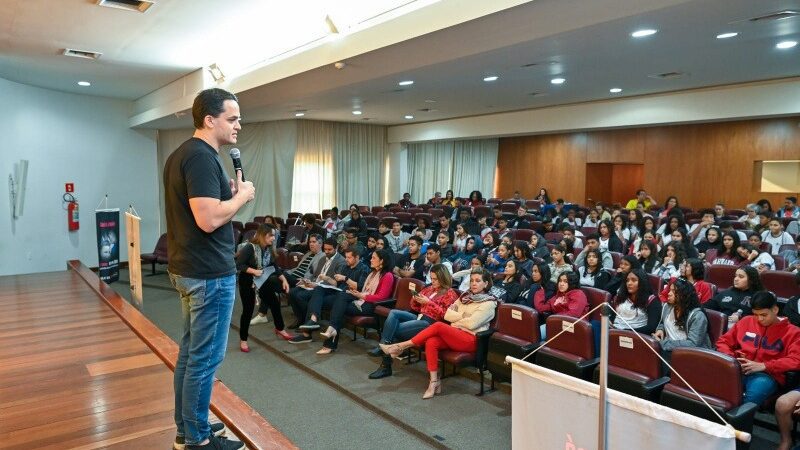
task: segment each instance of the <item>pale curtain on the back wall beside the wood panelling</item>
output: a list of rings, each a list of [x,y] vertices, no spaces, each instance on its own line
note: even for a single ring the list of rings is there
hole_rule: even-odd
[[[408,189],[415,203],[448,189],[458,197],[479,190],[490,197],[497,166],[497,139],[408,144]]]

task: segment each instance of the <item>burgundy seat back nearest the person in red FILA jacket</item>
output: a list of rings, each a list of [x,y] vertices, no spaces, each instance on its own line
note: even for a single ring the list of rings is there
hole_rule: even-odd
[[[739,362],[713,350],[695,347],[680,347],[672,351],[670,364],[675,369],[669,384],[664,388],[672,394],[696,396],[675,375],[680,373],[686,382],[712,405],[729,410],[742,403],[742,377]],[[710,376],[713,374],[713,376]]]

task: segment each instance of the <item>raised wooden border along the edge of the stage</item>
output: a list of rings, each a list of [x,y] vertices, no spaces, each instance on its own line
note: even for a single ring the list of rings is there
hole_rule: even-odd
[[[170,370],[175,370],[175,361],[178,358],[178,345],[175,341],[100,280],[97,274],[83,263],[78,260],[68,261],[67,269],[78,274]],[[214,382],[211,411],[252,450],[297,448],[283,433],[270,425],[247,402],[219,380]]]

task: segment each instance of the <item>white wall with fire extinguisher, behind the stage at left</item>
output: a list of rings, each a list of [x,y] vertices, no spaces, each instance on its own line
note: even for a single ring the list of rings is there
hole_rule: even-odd
[[[80,259],[97,266],[94,210],[108,194],[120,211],[120,261],[127,261],[124,211],[142,217],[141,246],[158,239],[155,131],[128,128],[131,102],[66,94],[0,78],[5,135],[0,150],[0,275],[64,270]],[[8,177],[30,161],[22,217],[13,220]],[[67,231],[64,183],[75,183],[80,230]]]

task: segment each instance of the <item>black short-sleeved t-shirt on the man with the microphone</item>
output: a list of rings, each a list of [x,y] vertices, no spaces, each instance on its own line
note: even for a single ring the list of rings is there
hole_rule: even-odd
[[[212,279],[236,273],[230,222],[206,233],[194,220],[189,199],[233,197],[222,161],[198,138],[181,144],[164,165],[169,271],[188,278]]]

